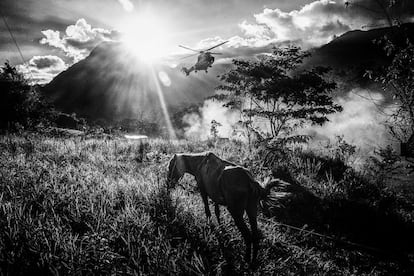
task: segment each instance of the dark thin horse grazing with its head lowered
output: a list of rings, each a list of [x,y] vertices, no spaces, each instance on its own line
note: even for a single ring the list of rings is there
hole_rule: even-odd
[[[254,263],[260,241],[257,229],[258,203],[260,200],[267,200],[270,189],[280,181],[271,181],[263,188],[247,169],[222,160],[211,152],[175,154],[168,165],[169,188],[174,188],[185,173],[195,177],[208,219],[211,217],[208,197],[214,202],[218,223],[220,223],[219,205],[227,206],[246,243],[245,260]],[[247,213],[251,230],[244,222],[244,212]]]

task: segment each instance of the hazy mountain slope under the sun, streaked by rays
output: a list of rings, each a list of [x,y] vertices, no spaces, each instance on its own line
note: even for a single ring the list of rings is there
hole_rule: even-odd
[[[167,106],[199,102],[214,93],[223,66],[215,65],[208,74],[199,72],[187,77],[178,67],[154,65],[151,69],[120,43],[106,42],[56,76],[43,90],[64,112],[92,120],[141,115],[156,118],[161,112],[157,86]]]

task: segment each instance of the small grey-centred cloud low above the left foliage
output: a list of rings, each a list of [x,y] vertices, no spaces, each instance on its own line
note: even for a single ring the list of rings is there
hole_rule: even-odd
[[[38,84],[50,82],[53,77],[67,68],[65,62],[57,56],[34,56],[25,65],[18,65],[17,69],[27,78]]]

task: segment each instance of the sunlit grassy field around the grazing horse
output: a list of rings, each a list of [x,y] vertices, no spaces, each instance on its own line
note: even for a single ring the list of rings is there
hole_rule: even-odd
[[[318,209],[318,216],[303,212],[300,219],[289,220],[276,213],[260,215],[260,264],[249,268],[229,214],[222,212],[222,225],[215,219],[208,223],[191,177],[175,190],[166,190],[172,154],[206,150],[247,165],[258,179],[264,176],[260,154],[249,155],[241,143],[154,139],[140,163],[138,145],[121,138],[1,136],[0,274],[413,273],[413,237],[406,239],[414,221],[412,199],[363,182],[357,173],[321,178],[321,165],[309,154],[295,157],[292,174],[315,195],[318,204],[308,209]],[[300,208],[291,209],[298,215]],[[375,223],[382,224],[368,225],[372,220],[367,218],[376,216]],[[337,239],[280,222],[300,228],[306,223],[307,230]]]

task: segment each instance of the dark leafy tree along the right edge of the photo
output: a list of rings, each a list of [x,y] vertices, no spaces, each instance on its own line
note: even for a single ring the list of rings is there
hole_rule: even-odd
[[[414,148],[414,45],[402,25],[407,20],[404,14],[408,0],[373,0],[374,8],[354,2],[351,4],[357,8],[379,15],[379,20],[386,19],[390,27],[389,33],[376,41],[383,46],[390,63],[374,71],[368,70],[366,75],[380,83],[384,93],[392,99],[393,108],[388,111],[391,113],[388,114],[386,126],[391,135],[401,142],[402,154],[413,155],[414,150],[403,153]]]

